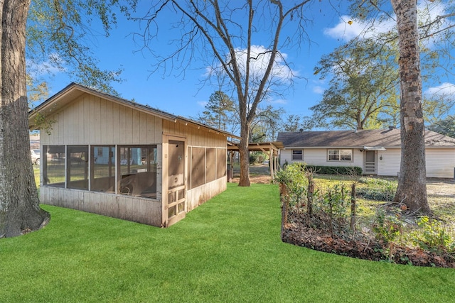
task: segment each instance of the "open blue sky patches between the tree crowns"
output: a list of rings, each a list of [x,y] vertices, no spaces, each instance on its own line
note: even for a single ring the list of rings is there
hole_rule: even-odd
[[[360,33],[364,26],[343,11],[336,12],[328,8],[324,2],[315,2],[311,9],[314,22],[306,28],[311,42],[307,41],[299,48],[281,50],[301,79],[294,79],[293,91],[282,98],[270,100],[268,104],[282,107],[287,114],[311,115],[309,107],[321,100],[323,89],[326,88],[326,82],[313,75],[315,65],[321,55],[331,53],[338,45]],[[137,16],[141,15],[140,10],[137,11]],[[90,43],[102,69],[117,70],[121,67],[124,70],[121,75],[124,82],[115,83],[114,89],[124,99],[134,99],[140,104],[148,104],[171,114],[196,117],[203,111],[203,105],[210,94],[216,90],[216,87],[201,84],[205,77],[205,66],[193,62],[184,76],[178,70],[168,71],[166,75],[163,72],[151,73],[154,57],[147,51],[139,51],[141,45],[134,43],[131,35],[140,31],[138,23],[127,21],[122,16],[118,18],[117,28],[112,29],[108,38],[100,35],[91,38]],[[169,13],[166,18],[171,20],[174,16]],[[354,22],[350,25],[348,21]],[[171,23],[160,23],[159,26],[160,30],[166,31]],[[96,29],[94,32],[96,33]],[[163,37],[154,41],[152,47],[162,55],[167,55],[170,50],[168,40]],[[65,72],[55,72],[55,75],[49,78],[50,96],[74,80]],[[424,91],[436,89],[439,85],[447,86],[447,83],[449,82],[433,83],[432,87],[424,86]]]

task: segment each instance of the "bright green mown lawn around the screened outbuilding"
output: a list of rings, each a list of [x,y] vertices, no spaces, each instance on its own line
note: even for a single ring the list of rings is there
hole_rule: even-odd
[[[43,206],[0,239],[0,302],[453,302],[455,270],[282,243],[277,185],[228,190],[170,228]]]

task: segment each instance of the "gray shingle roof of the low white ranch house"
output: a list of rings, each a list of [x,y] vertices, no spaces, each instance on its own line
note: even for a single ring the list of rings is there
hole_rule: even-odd
[[[285,148],[346,147],[362,148],[364,146],[400,147],[400,129],[373,129],[361,131],[302,131],[278,133],[277,141]],[[453,147],[455,139],[425,131],[425,146]]]

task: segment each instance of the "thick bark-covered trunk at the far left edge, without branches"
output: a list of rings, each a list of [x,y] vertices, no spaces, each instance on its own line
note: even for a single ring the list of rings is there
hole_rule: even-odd
[[[30,0],[0,2],[0,238],[45,224],[30,155],[26,96],[26,18]]]

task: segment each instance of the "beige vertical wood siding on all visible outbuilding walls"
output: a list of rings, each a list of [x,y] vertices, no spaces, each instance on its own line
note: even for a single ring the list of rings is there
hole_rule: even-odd
[[[187,146],[226,148],[227,138],[216,131],[181,121],[167,121],[129,106],[117,104],[92,94],[82,94],[48,119],[55,121],[50,136],[41,133],[41,145],[141,145],[156,144],[156,199],[88,192],[58,187],[41,187],[44,204],[64,206],[119,219],[161,226],[163,224],[163,192],[167,189],[164,135],[185,138]],[[188,166],[186,165],[186,168]],[[226,177],[188,190],[186,209],[191,211],[226,189]]]

